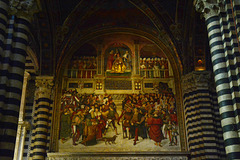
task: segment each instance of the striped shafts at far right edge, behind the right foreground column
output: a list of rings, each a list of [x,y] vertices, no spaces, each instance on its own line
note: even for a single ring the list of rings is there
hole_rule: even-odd
[[[233,99],[236,127],[240,130],[240,45],[237,31],[237,16],[240,17],[240,1],[225,1],[224,10],[220,14],[220,24],[230,89]],[[238,136],[240,132],[238,133]]]

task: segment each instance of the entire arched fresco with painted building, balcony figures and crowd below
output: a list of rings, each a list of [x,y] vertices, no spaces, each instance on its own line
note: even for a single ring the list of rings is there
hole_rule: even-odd
[[[180,150],[170,63],[152,45],[132,46],[84,45],[73,55],[63,83],[60,151]]]

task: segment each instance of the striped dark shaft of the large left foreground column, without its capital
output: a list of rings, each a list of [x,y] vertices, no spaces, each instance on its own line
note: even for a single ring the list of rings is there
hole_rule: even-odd
[[[13,15],[6,26],[5,33],[0,33],[5,37],[0,66],[0,159],[13,158],[29,22]]]

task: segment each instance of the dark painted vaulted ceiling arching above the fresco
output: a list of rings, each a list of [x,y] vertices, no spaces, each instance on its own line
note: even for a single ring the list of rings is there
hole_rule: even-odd
[[[30,47],[37,54],[42,75],[54,75],[58,62],[64,58],[62,53],[76,46],[81,37],[115,28],[142,30],[155,34],[166,46],[174,46],[183,74],[193,70],[198,58],[208,59],[206,27],[192,0],[42,0],[41,3],[42,11],[31,28]],[[209,64],[207,60],[206,63]]]

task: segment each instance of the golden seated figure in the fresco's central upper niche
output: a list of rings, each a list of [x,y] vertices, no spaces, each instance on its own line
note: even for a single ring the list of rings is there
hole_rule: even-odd
[[[123,59],[120,57],[119,53],[116,53],[116,58],[112,65],[111,73],[124,73],[126,70],[126,65],[123,63]]]

